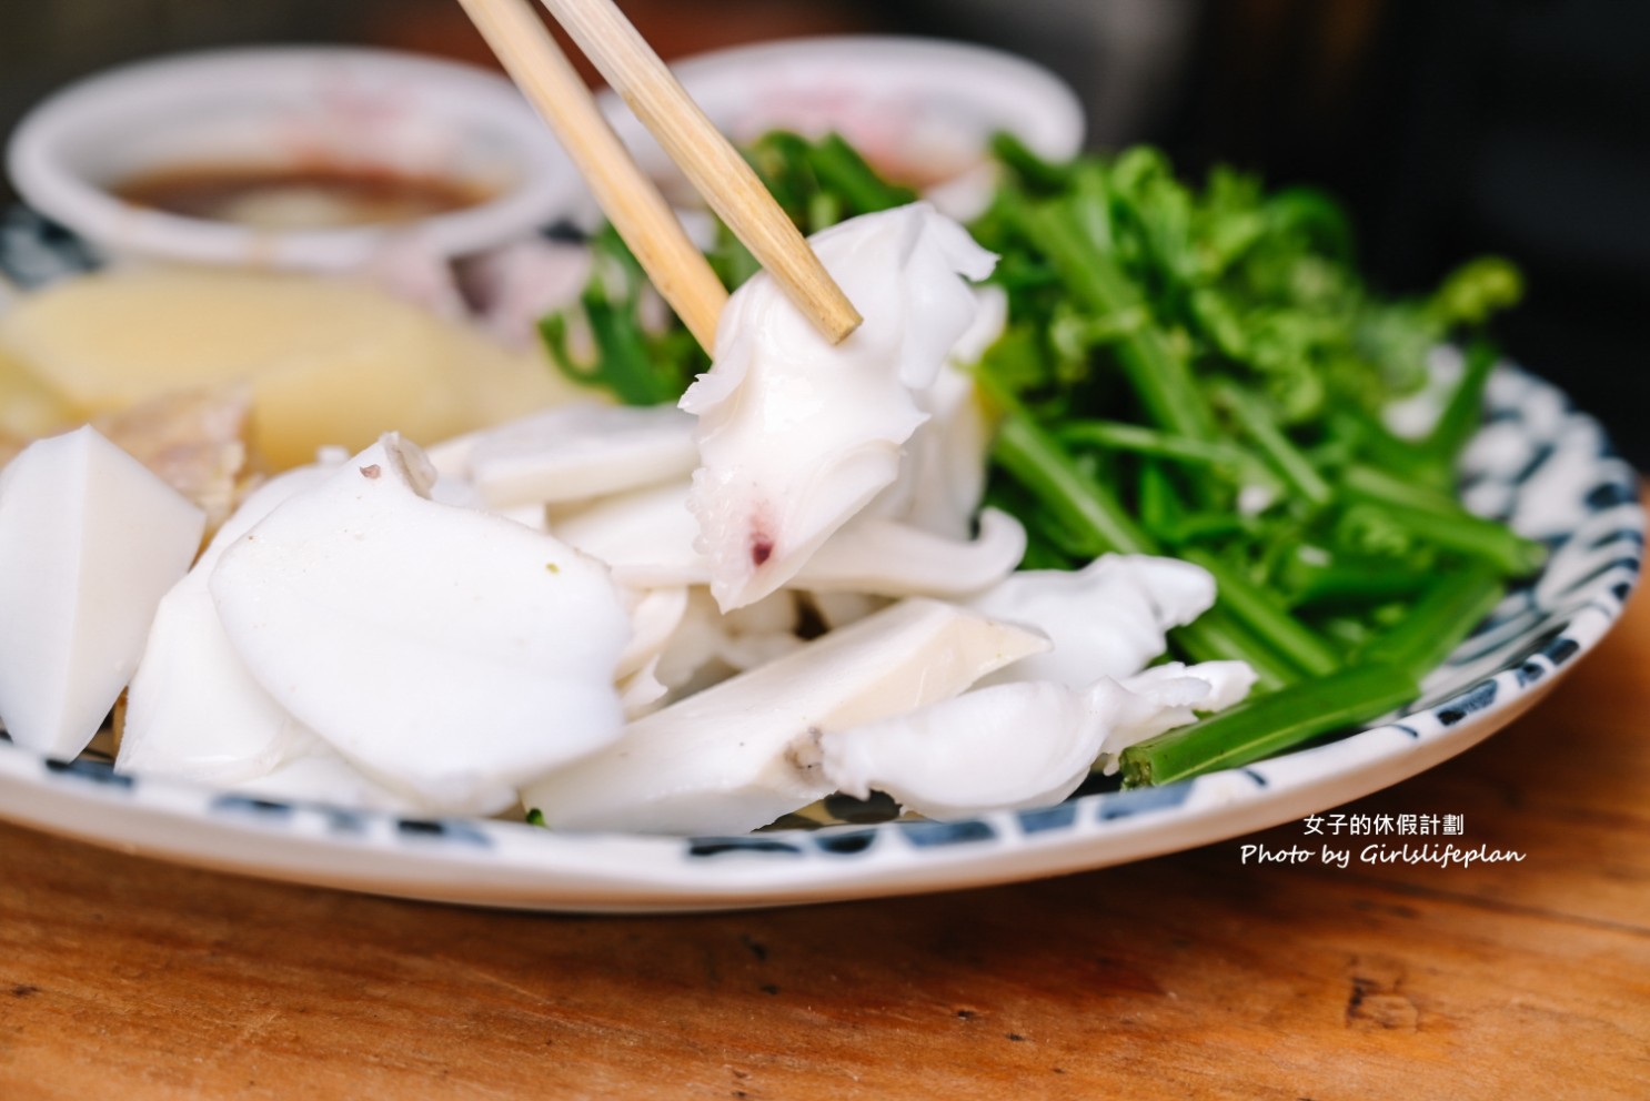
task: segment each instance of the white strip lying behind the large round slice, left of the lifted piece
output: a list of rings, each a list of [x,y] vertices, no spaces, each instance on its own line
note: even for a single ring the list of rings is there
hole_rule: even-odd
[[[576,402],[480,433],[467,465],[487,506],[502,509],[686,478],[698,458],[693,417],[675,405]]]

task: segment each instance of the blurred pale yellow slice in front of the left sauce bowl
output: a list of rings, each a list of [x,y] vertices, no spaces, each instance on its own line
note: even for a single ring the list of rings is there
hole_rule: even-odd
[[[0,437],[40,435],[61,412],[76,422],[234,384],[249,387],[248,442],[269,470],[325,445],[360,450],[386,430],[434,443],[571,392],[536,354],[314,275],[111,270],[0,316],[0,402],[21,396]]]

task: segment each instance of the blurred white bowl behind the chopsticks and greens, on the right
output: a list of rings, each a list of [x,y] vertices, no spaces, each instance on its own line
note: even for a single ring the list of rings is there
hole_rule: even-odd
[[[871,165],[921,176],[927,198],[959,218],[990,196],[983,165],[998,130],[1064,160],[1082,148],[1082,104],[1048,69],[997,49],[932,38],[795,38],[672,63],[672,73],[734,143],[767,130],[835,130]],[[612,92],[602,107],[642,168],[663,181],[670,160]]]

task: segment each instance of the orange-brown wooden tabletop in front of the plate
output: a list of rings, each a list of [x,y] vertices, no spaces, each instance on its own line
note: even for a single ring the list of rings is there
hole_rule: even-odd
[[[1341,808],[1526,855],[1473,869],[1246,867],[1234,841],[584,918],[0,826],[0,1098],[1650,1098],[1647,702],[1650,598],[1534,714]]]

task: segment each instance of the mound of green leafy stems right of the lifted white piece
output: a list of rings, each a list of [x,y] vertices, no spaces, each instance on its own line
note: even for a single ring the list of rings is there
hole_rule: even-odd
[[[1031,499],[1018,514],[1040,564],[1081,565],[1059,562],[1059,534],[1086,529],[1206,567],[1219,600],[1175,648],[1261,674],[1251,702],[1129,750],[1125,783],[1239,765],[1414,699],[1543,559],[1454,493],[1495,364],[1485,325],[1518,298],[1516,270],[1475,260],[1424,300],[1389,300],[1322,193],[1269,194],[1224,168],[1198,190],[1152,148],[1071,165],[1008,137],[997,152],[1005,180],[974,226],[1003,257],[1013,318],[978,366],[1006,410],[993,490]],[[1454,396],[1429,437],[1396,438],[1384,407],[1449,340],[1468,349]]]

